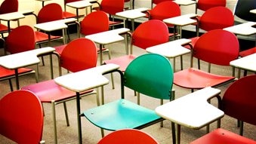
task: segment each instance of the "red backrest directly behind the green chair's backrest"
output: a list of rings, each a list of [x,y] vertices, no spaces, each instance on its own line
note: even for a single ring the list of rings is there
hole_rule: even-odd
[[[161,20],[148,20],[141,23],[132,33],[131,43],[146,49],[168,41],[168,27]]]

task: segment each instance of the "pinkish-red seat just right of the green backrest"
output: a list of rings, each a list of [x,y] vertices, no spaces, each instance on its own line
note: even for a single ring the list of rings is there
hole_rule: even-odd
[[[174,73],[174,84],[190,89],[216,87],[234,79],[235,77],[233,76],[214,75],[194,68],[184,69]]]

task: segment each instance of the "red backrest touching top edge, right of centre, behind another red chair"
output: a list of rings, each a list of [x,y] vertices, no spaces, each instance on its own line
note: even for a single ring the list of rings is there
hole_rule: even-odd
[[[180,16],[180,6],[172,1],[164,1],[150,10],[150,20],[164,20],[170,17]]]

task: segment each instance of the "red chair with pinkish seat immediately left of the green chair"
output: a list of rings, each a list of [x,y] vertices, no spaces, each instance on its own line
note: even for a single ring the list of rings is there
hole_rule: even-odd
[[[78,38],[70,41],[69,44],[63,49],[60,55],[60,75],[61,68],[67,69],[70,72],[78,72],[83,69],[89,69],[97,64],[97,47],[93,41],[87,38]],[[63,103],[66,124],[69,126],[68,115],[66,112],[66,101],[76,99],[76,93],[67,90],[56,84],[54,80],[42,81],[37,84],[31,84],[26,87],[22,87],[23,90],[30,90],[39,97],[42,103],[51,103],[53,109],[53,124],[54,124],[54,140],[57,143],[57,127],[56,127],[56,115],[55,105]],[[94,90],[85,91],[81,93],[82,96],[89,94],[95,94]],[[99,100],[97,98],[97,104]]]

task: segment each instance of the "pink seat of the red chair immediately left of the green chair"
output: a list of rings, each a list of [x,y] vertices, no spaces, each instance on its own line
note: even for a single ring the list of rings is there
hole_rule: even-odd
[[[39,97],[42,103],[51,103],[52,100],[58,102],[60,100],[76,98],[76,93],[74,91],[61,87],[60,85],[56,84],[54,80],[42,81],[40,83],[22,87],[21,89],[32,91],[37,97]],[[81,93],[81,95],[90,93],[91,91],[93,90],[87,90],[84,93]]]

